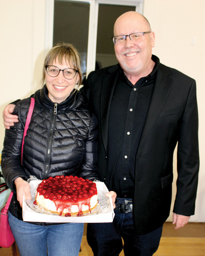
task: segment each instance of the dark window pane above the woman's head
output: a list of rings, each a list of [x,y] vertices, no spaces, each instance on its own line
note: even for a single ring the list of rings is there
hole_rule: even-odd
[[[72,43],[81,56],[83,74],[86,74],[89,12],[89,2],[54,1],[53,45]]]

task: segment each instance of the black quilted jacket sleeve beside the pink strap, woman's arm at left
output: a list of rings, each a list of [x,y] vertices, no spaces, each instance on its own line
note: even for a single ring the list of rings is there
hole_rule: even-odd
[[[10,129],[6,129],[4,148],[2,151],[1,169],[8,187],[16,192],[14,180],[18,177],[27,179],[21,166],[21,145],[24,133],[24,124],[20,118],[20,106],[16,106],[13,114],[19,116],[19,122]],[[26,116],[26,113],[25,113]]]

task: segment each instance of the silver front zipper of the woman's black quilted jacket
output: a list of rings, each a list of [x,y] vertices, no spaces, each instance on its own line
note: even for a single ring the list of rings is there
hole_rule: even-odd
[[[49,130],[49,136],[48,136],[48,143],[47,143],[47,156],[46,156],[46,165],[45,165],[45,179],[48,178],[49,173],[49,167],[50,167],[50,159],[51,159],[51,145],[52,145],[52,138],[53,138],[53,132],[54,132],[54,124],[55,124],[55,115],[57,114],[57,103],[54,103],[54,109],[52,113],[52,120]]]

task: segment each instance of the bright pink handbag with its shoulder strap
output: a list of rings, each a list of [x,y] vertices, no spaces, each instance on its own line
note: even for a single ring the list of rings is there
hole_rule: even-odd
[[[35,103],[34,98],[31,98],[31,103],[30,103],[30,107],[29,107],[29,111],[26,119],[24,134],[23,134],[23,142],[22,142],[22,149],[21,149],[21,164],[23,161],[22,156],[23,156],[24,137],[26,135],[28,125],[30,123],[30,119],[33,113],[34,103]],[[13,196],[13,192],[10,193],[5,207],[1,210],[1,216],[0,216],[0,246],[4,248],[10,247],[15,240],[8,223],[8,208],[9,208],[12,196]]]

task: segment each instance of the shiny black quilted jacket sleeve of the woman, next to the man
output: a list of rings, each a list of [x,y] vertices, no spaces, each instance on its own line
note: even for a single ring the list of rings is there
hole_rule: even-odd
[[[94,180],[99,179],[97,175],[97,161],[98,161],[98,120],[94,114],[92,114],[88,138],[85,142],[85,154],[81,164],[80,177]]]

